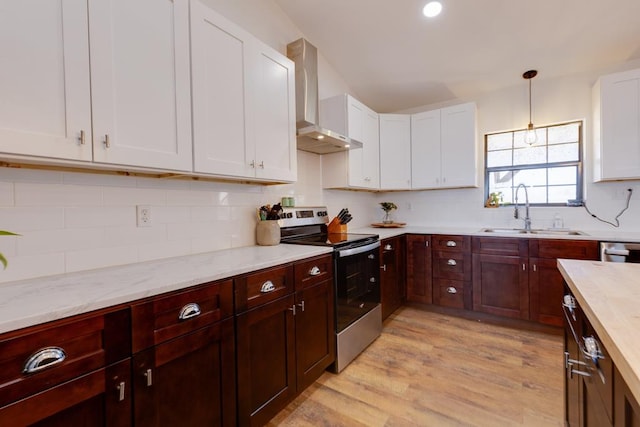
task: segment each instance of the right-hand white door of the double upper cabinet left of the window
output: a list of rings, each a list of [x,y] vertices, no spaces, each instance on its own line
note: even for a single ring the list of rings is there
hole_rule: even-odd
[[[476,187],[476,106],[454,105],[440,110],[441,187]]]

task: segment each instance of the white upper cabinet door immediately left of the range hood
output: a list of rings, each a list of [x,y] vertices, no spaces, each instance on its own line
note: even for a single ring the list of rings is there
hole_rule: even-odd
[[[256,47],[251,86],[256,178],[295,181],[294,64],[261,42],[256,41]]]

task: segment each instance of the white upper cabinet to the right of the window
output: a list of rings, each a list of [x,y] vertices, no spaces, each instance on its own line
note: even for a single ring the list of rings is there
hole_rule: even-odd
[[[593,88],[594,180],[640,179],[640,69]]]

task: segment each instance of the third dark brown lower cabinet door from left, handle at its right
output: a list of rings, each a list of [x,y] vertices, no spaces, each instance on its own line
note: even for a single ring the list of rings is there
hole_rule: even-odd
[[[296,393],[294,295],[236,317],[238,422],[266,424]]]

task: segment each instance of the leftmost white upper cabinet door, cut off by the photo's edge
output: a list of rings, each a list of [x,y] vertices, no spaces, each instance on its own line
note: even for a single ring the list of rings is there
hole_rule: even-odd
[[[3,1],[0,40],[0,152],[90,161],[86,1]]]

